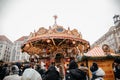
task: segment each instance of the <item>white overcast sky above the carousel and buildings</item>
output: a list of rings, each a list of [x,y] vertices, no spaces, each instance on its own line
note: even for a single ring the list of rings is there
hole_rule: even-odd
[[[57,24],[77,29],[83,39],[94,43],[113,24],[120,14],[117,0],[0,0],[0,35],[12,42],[40,27]]]

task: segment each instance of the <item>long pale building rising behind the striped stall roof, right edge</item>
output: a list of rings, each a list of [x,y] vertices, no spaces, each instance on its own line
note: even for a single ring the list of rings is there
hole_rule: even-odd
[[[114,26],[112,26],[101,38],[95,41],[92,47],[102,47],[103,44],[107,44],[111,49],[114,50],[114,52],[120,53],[120,15],[115,15],[113,20]]]

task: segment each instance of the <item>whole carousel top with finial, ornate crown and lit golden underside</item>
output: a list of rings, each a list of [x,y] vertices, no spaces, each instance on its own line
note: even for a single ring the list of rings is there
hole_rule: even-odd
[[[61,52],[67,56],[72,53],[85,53],[90,48],[89,42],[82,39],[77,29],[65,29],[57,25],[57,16],[54,16],[55,23],[49,29],[40,27],[38,31],[31,32],[28,40],[21,47],[22,52],[28,54],[50,55]]]

